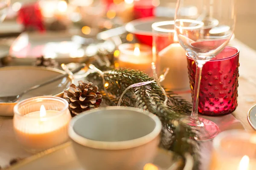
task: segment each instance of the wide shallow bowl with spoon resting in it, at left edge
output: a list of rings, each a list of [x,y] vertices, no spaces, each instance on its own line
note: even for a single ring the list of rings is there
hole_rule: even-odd
[[[66,74],[66,72],[54,68],[35,67],[35,66],[13,66],[0,68],[0,96],[12,96],[24,90],[41,84],[49,79]],[[49,85],[32,90],[24,94],[21,99],[28,99],[35,96],[59,96],[63,95],[69,85],[73,83],[73,78],[64,77]],[[0,116],[13,116],[15,103],[0,102]]]

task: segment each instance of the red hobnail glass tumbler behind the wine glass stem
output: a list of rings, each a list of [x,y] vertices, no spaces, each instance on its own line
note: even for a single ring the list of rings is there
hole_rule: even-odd
[[[196,65],[187,54],[189,82],[194,92]],[[201,75],[198,112],[207,116],[232,113],[237,107],[239,51],[225,47],[204,64]]]

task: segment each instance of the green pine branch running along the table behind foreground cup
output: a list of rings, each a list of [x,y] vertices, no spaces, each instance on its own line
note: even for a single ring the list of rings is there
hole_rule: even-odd
[[[108,100],[111,100],[110,102],[114,105],[128,86],[153,80],[152,77],[148,77],[147,74],[141,71],[128,69],[113,70],[105,73],[104,79],[109,84],[107,87]],[[101,78],[98,80],[102,82]],[[128,91],[123,98],[122,105],[135,105],[138,108],[156,114],[163,125],[161,146],[173,150],[181,156],[185,156],[185,153],[189,152],[196,161],[194,168],[197,169],[199,164],[199,143],[195,141],[195,132],[190,127],[180,125],[178,122],[182,116],[189,113],[191,104],[171,91],[167,91],[167,94],[169,105],[164,106],[165,96],[157,83],[153,82]],[[102,95],[104,99],[107,98],[106,94]]]

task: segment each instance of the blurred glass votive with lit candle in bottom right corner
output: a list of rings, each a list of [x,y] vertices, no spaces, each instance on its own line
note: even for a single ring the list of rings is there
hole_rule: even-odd
[[[213,139],[209,170],[255,170],[256,134],[227,130]]]

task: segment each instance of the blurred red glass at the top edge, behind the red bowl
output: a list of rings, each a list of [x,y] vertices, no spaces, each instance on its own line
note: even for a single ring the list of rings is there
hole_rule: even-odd
[[[135,19],[154,16],[153,0],[134,0]]]

